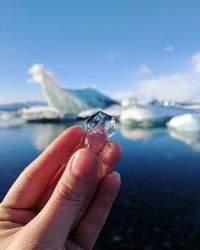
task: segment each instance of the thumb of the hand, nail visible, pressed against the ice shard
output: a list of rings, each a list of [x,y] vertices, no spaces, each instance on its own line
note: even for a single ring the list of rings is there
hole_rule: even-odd
[[[96,175],[94,155],[87,149],[78,150],[70,159],[50,200],[34,218],[37,235],[48,239],[48,245],[51,241],[52,244],[64,243]]]

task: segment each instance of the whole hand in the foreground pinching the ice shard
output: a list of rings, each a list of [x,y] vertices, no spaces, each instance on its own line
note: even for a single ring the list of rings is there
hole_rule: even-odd
[[[67,129],[18,177],[0,204],[0,249],[93,248],[121,185],[121,148],[108,142],[96,157],[84,136]]]

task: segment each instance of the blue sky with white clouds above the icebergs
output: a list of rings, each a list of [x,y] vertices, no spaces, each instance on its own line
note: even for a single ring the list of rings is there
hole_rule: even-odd
[[[199,0],[0,0],[0,102],[44,100],[42,64],[62,86],[115,98],[200,100]]]

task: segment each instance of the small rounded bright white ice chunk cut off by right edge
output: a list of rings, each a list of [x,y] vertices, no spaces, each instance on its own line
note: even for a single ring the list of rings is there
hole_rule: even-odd
[[[172,118],[167,127],[181,131],[200,131],[200,114],[185,114]]]

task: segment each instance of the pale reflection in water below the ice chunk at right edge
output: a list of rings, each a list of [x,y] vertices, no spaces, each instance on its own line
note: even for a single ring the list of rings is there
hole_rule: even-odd
[[[178,130],[169,129],[169,135],[179,141],[189,145],[194,151],[200,152],[200,132],[184,132]]]

